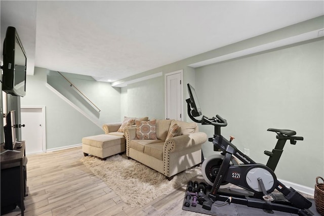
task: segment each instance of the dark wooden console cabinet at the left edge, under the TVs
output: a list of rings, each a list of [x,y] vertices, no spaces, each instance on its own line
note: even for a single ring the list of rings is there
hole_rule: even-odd
[[[21,147],[15,147],[14,150],[20,152],[5,152],[4,144],[1,144],[1,214],[8,213],[18,206],[23,216],[24,197],[27,196],[25,142],[22,141]]]

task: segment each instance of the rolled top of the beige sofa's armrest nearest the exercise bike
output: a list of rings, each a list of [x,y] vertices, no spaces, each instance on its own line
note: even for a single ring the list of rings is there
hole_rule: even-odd
[[[202,145],[207,141],[207,135],[204,132],[181,135],[166,140],[164,144],[164,154],[169,152],[178,152],[184,149]]]

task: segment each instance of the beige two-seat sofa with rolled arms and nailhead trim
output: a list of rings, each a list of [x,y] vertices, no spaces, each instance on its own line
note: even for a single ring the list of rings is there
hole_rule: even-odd
[[[177,124],[178,136],[170,137]],[[168,179],[179,172],[201,163],[201,145],[207,135],[198,131],[196,123],[163,119],[156,120],[156,139],[136,139],[136,126],[124,129],[126,155],[164,174]]]

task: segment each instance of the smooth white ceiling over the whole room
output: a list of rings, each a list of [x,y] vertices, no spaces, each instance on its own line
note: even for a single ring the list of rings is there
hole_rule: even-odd
[[[324,14],[324,1],[1,1],[33,66],[115,81]]]

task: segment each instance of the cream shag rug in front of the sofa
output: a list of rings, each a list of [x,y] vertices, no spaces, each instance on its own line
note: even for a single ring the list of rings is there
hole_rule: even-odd
[[[125,154],[114,155],[106,160],[90,155],[83,157],[81,161],[133,208],[140,208],[186,185],[194,177],[201,176],[200,167],[193,167],[168,181],[163,174],[136,160],[128,159]]]

